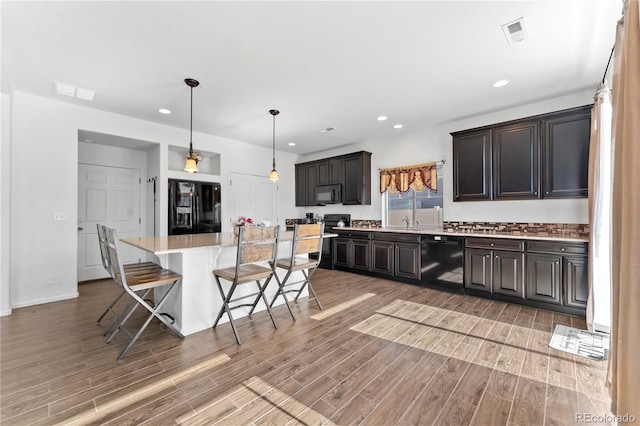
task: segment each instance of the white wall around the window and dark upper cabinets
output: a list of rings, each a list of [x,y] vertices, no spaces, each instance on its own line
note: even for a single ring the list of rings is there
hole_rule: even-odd
[[[594,89],[595,91],[595,89]],[[450,133],[532,115],[558,111],[593,103],[594,91],[513,107],[476,117],[434,126],[420,133],[401,133],[394,138],[363,141],[346,148],[325,151],[302,157],[298,162],[313,161],[354,151],[369,151],[371,156],[372,194],[370,206],[330,205],[298,208],[298,216],[309,211],[318,214],[351,213],[352,219],[382,219],[382,197],[378,193],[378,169],[418,164],[444,159],[444,215],[445,221],[496,221],[541,223],[588,223],[587,199],[517,200],[453,202],[453,148]],[[409,126],[406,126],[407,128]]]

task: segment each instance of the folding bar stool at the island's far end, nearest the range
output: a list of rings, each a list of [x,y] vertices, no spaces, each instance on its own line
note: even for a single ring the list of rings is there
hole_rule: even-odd
[[[318,268],[320,260],[322,259],[322,238],[324,234],[324,223],[301,225],[296,224],[293,229],[293,241],[291,243],[291,256],[286,259],[278,259],[274,265],[275,268],[285,269],[287,271],[284,279],[280,281],[278,274],[275,273],[276,281],[278,282],[278,292],[271,300],[270,306],[273,306],[278,296],[282,295],[284,301],[289,309],[291,318],[295,321],[296,317],[293,315],[291,306],[289,306],[289,299],[287,293],[296,293],[295,301],[298,301],[300,294],[309,286],[309,292],[312,295],[309,299],[315,300],[318,304],[318,308],[322,310],[322,304],[316,291],[311,285],[311,274]],[[309,257],[311,253],[318,253],[317,259]],[[306,256],[305,256],[306,255]],[[295,271],[302,271],[303,278],[297,281],[289,282],[291,274]],[[302,285],[300,285],[302,284]],[[292,288],[293,286],[298,286]],[[287,289],[288,288],[288,289]]]

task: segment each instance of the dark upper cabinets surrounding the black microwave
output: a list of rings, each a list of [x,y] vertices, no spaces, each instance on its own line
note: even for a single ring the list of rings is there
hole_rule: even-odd
[[[366,151],[296,164],[296,206],[315,206],[318,185],[342,185],[342,204],[371,204],[371,153]]]

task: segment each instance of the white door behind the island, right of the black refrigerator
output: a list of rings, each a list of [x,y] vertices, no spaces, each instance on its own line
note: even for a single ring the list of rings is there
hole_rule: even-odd
[[[231,172],[229,219],[247,216],[256,222],[278,224],[278,184],[266,176]]]

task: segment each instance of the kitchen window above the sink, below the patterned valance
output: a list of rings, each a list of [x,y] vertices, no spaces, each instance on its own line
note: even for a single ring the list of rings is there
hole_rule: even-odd
[[[442,226],[442,164],[437,169],[438,191],[425,189],[414,192],[413,188],[404,194],[384,193],[383,202],[385,226]]]

